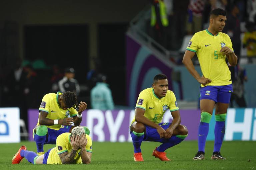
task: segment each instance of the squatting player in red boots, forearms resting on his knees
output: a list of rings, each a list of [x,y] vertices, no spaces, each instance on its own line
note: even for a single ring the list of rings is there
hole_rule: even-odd
[[[173,121],[162,123],[165,111],[169,109]],[[152,88],[143,90],[138,97],[135,118],[130,125],[134,146],[134,161],[144,161],[141,154],[142,141],[155,141],[162,144],[153,150],[153,156],[162,161],[170,161],[165,150],[179,144],[188,135],[184,125],[180,125],[180,112],[174,93],[168,90],[166,75],[154,77]]]

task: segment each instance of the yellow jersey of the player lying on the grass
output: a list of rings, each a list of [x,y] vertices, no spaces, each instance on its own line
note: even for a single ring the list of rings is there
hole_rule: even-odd
[[[72,146],[70,144],[71,133],[62,133],[56,139],[56,147],[52,148],[47,158],[47,164],[62,164],[59,154],[64,152],[70,152]],[[92,139],[89,135],[85,134],[87,138],[86,151],[92,152]],[[76,151],[74,158],[76,164],[82,164],[81,149]]]

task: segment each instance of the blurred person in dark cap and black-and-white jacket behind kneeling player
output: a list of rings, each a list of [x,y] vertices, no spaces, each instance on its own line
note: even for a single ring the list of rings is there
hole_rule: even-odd
[[[74,68],[66,68],[64,77],[58,82],[59,89],[61,92],[71,91],[75,93],[77,96],[80,93],[80,86],[78,81],[74,79],[75,70]]]

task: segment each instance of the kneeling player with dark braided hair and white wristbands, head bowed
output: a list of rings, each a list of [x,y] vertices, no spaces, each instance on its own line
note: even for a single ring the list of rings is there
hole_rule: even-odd
[[[79,126],[86,107],[85,102],[78,104],[76,94],[70,91],[46,94],[38,110],[37,126],[33,130],[38,155],[44,153],[44,144],[56,144],[60,134],[70,132],[72,123]],[[86,131],[88,134],[89,129]]]

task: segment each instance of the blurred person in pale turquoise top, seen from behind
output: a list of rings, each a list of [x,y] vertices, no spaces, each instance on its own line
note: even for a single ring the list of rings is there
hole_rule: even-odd
[[[91,105],[92,109],[113,110],[114,102],[111,90],[106,83],[107,77],[105,75],[98,75],[98,82],[91,90]]]

